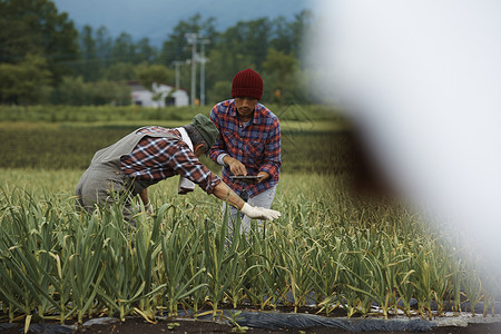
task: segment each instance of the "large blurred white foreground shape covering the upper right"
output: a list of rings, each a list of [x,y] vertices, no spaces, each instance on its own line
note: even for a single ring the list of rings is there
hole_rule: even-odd
[[[323,0],[308,61],[405,196],[501,273],[501,2]]]

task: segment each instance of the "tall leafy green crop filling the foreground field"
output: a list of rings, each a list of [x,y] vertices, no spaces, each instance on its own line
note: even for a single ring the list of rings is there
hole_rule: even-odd
[[[38,171],[37,186],[56,173]],[[119,206],[80,215],[68,185],[55,195],[43,190],[50,185],[21,190],[8,179],[0,191],[0,314],[10,321],[153,321],[179,307],[217,316],[248,303],[308,302],[324,314],[367,315],[376,302],[385,316],[425,317],[432,301],[438,315],[451,301],[458,312],[483,301],[487,313],[498,292],[415,213],[361,205],[332,177],[284,175],[273,206],[282,217],[254,222],[254,233],[232,242],[220,203],[202,191],[175,196],[175,180],[154,186],[156,215],[137,216],[137,228],[124,225]]]

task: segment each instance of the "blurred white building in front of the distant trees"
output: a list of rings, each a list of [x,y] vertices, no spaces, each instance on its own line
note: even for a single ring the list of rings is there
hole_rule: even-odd
[[[161,108],[166,106],[188,106],[189,96],[184,89],[177,89],[168,85],[154,82],[151,90],[146,89],[137,81],[129,82],[132,95],[132,104],[143,107]]]

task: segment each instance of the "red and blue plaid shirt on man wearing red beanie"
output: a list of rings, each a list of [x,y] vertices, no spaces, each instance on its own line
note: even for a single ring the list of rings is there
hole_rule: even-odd
[[[226,100],[214,106],[210,120],[219,130],[219,138],[209,150],[209,157],[227,154],[247,168],[247,175],[259,171],[269,174],[269,178],[257,185],[234,181],[229,178],[229,168],[223,167],[223,181],[234,190],[246,190],[253,197],[278,184],[281,161],[281,126],[278,118],[265,106],[257,104],[254,117],[244,126],[237,117],[235,100]]]

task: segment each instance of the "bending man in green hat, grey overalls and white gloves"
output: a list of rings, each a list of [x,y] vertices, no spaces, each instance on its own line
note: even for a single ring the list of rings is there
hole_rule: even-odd
[[[96,153],[77,185],[77,204],[92,213],[96,205],[109,206],[117,198],[124,198],[124,218],[131,222],[137,213],[132,197],[139,195],[145,208],[153,212],[147,188],[180,175],[247,216],[277,218],[278,212],[246,204],[198,160],[207,154],[217,136],[217,128],[200,114],[180,128],[151,126],[137,129]]]

